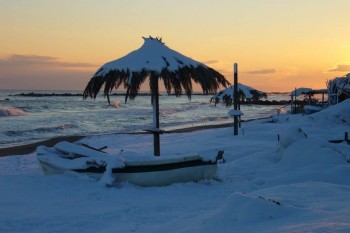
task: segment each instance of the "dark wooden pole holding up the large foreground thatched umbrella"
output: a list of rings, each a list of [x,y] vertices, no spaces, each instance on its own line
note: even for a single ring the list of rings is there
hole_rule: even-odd
[[[151,83],[153,87],[152,92],[152,105],[153,105],[153,154],[154,156],[160,156],[160,129],[159,129],[159,90],[158,90],[158,77],[151,75]]]

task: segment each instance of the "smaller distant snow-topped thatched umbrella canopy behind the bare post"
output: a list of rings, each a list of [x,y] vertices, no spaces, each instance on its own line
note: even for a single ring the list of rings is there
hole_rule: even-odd
[[[215,94],[211,99],[210,102],[218,104],[220,101],[224,102],[227,106],[231,106],[233,103],[233,100],[235,98],[233,94],[234,85],[229,86],[228,88],[220,91],[219,93]],[[238,83],[238,96],[239,102],[252,102],[256,103],[262,98],[267,99],[266,92],[256,90],[252,87],[243,85],[241,83]]]

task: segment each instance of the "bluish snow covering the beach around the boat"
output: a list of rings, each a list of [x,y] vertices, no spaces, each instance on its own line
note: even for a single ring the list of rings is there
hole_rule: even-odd
[[[244,131],[244,134],[243,134]],[[161,154],[225,151],[222,182],[107,188],[43,176],[35,153],[0,158],[0,232],[350,232],[350,100],[313,115],[161,136]],[[278,138],[280,141],[278,142]],[[152,135],[84,138],[151,156]]]

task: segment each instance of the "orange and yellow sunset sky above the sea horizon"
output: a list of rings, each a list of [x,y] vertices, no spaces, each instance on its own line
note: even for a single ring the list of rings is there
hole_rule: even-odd
[[[349,0],[0,0],[0,89],[83,90],[158,36],[232,83],[291,91],[350,73]],[[199,89],[198,89],[199,90]]]

